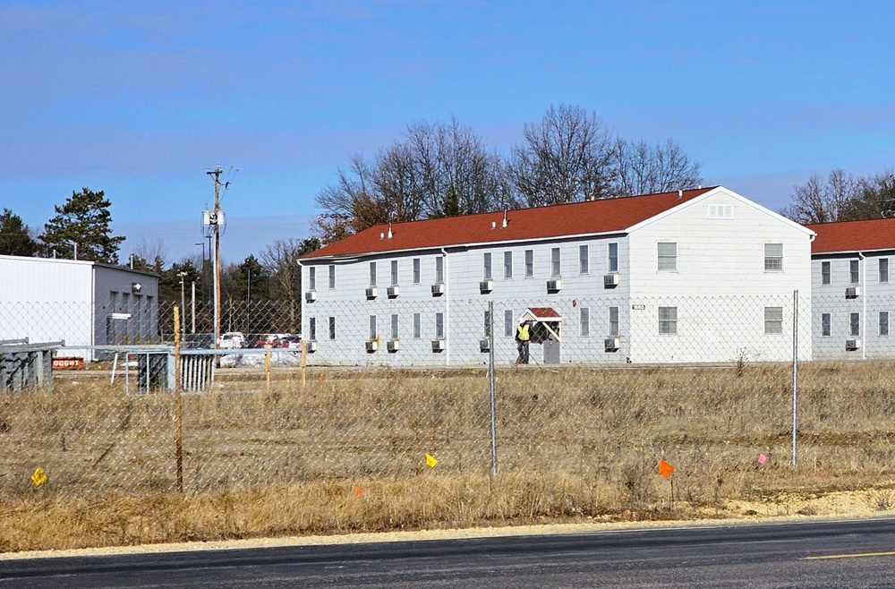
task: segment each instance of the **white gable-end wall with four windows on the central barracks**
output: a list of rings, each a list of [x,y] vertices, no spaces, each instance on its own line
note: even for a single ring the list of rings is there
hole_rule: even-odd
[[[729,205],[732,218],[709,218],[709,205]],[[658,269],[660,242],[678,243],[676,271]],[[764,270],[765,243],[783,244],[782,271]],[[799,331],[805,345],[800,355],[811,358],[811,253],[803,228],[718,189],[636,227],[630,248],[631,302],[637,305],[632,310],[633,362],[791,359],[795,290],[802,299]],[[677,335],[659,334],[660,306],[678,308]],[[765,335],[765,306],[783,308],[784,335]],[[742,337],[732,338],[731,332]]]

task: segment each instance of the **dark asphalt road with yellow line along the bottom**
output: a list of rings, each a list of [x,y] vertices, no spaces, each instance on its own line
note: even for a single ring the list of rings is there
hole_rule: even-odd
[[[895,519],[0,561],[6,587],[895,587]]]

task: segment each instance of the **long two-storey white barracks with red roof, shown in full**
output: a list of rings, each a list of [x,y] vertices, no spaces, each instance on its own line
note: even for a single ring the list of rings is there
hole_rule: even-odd
[[[301,260],[309,362],[788,360],[813,235],[720,186],[374,226]]]

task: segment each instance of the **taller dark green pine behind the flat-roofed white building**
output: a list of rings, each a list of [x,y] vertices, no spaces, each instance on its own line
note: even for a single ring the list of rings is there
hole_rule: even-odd
[[[73,242],[78,244],[80,260],[117,264],[118,247],[124,236],[112,235],[112,214],[108,209],[111,204],[103,191],[93,192],[86,187],[81,192],[72,191],[72,198],[62,207],[55,207],[56,216],[44,226],[40,241],[45,254],[55,251],[57,256],[71,258]]]

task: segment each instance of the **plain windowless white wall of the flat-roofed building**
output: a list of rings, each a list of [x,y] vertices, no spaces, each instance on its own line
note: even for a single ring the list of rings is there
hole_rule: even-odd
[[[0,256],[0,339],[93,344],[93,263]]]

